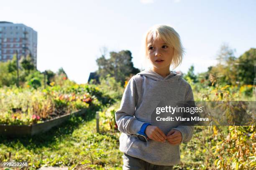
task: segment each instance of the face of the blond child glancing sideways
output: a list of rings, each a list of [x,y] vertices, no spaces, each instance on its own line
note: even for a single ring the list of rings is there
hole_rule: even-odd
[[[162,39],[156,39],[153,44],[153,40],[149,40],[148,47],[148,59],[151,64],[157,70],[168,70],[170,68],[172,58],[174,55],[174,48],[171,45],[166,44]],[[158,61],[162,60],[162,61]]]

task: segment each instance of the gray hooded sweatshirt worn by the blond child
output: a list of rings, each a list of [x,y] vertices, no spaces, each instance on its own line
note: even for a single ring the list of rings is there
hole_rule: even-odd
[[[115,120],[120,135],[120,151],[135,158],[155,165],[175,165],[180,162],[179,145],[171,145],[149,139],[143,142],[136,133],[143,123],[159,127],[165,135],[172,130],[179,130],[182,142],[192,138],[194,126],[175,126],[170,122],[156,122],[152,115],[161,101],[193,101],[191,86],[181,75],[171,72],[162,77],[153,70],[144,70],[134,75],[128,82],[123,93],[120,108],[115,112]]]

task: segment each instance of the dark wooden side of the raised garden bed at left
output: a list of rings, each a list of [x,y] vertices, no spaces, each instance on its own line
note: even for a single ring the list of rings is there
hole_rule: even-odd
[[[78,112],[68,113],[59,117],[54,117],[50,120],[46,120],[42,123],[33,125],[0,125],[0,135],[6,135],[10,137],[24,136],[24,135],[36,135],[43,133],[51,128],[60,125],[65,122],[71,116],[80,116],[86,113],[87,109],[79,110]]]

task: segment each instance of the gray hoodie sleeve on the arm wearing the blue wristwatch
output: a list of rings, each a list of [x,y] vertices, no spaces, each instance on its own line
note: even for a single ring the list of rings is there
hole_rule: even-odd
[[[125,87],[120,108],[115,112],[115,121],[118,125],[118,130],[127,135],[138,133],[144,123],[133,116],[137,101],[138,93],[133,76]]]

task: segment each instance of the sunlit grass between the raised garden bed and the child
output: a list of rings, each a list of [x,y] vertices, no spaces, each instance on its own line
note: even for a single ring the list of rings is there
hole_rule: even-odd
[[[119,133],[96,133],[96,120],[71,117],[47,133],[23,138],[0,136],[0,162],[27,161],[28,169],[43,166],[121,169]],[[82,165],[83,164],[83,165]]]

